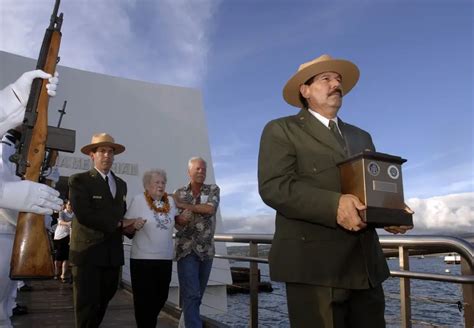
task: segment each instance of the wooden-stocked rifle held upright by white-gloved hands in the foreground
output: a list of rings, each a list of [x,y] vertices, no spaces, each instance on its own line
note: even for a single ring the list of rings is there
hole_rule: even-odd
[[[60,0],[56,0],[50,25],[46,29],[41,45],[37,69],[54,74],[59,61],[61,25],[63,14],[59,16]],[[41,165],[46,153],[48,135],[48,104],[46,90],[48,81],[35,79],[23,120],[23,132],[17,150],[16,174],[24,180],[39,181]],[[10,262],[10,278],[45,279],[54,276],[51,246],[44,227],[43,215],[21,212],[18,215],[15,241]]]

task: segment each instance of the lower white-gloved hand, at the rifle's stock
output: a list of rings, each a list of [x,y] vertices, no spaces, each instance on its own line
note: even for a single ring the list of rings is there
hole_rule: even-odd
[[[47,185],[23,180],[0,185],[0,208],[20,212],[52,214],[61,209],[59,192]]]

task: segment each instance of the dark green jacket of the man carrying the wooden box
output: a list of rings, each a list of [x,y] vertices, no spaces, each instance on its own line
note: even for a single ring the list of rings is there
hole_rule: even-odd
[[[258,185],[276,210],[269,254],[272,280],[346,289],[377,286],[389,276],[377,232],[350,232],[336,223],[337,163],[365,149],[371,136],[339,119],[346,151],[307,110],[269,122],[262,133]]]

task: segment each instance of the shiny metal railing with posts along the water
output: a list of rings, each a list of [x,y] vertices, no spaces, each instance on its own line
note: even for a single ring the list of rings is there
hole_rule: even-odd
[[[250,263],[250,316],[249,327],[258,327],[258,264],[268,263],[258,257],[259,244],[271,244],[273,235],[262,234],[216,234],[217,242],[245,243],[249,245],[249,256],[230,256],[216,254],[216,258],[232,259]],[[400,278],[400,313],[401,327],[410,328],[411,290],[410,279],[443,281],[462,284],[464,322],[466,327],[474,327],[474,246],[464,239],[449,236],[380,236],[380,243],[386,256],[399,258],[401,271],[391,270],[392,277]],[[410,253],[428,255],[455,252],[461,256],[461,275],[443,275],[410,271]]]

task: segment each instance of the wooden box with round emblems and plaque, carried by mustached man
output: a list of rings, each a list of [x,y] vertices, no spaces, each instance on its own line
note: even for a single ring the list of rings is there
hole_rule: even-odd
[[[413,217],[405,211],[402,164],[398,156],[364,151],[338,163],[341,192],[357,196],[367,206],[359,211],[372,226],[413,225]]]

